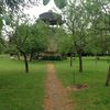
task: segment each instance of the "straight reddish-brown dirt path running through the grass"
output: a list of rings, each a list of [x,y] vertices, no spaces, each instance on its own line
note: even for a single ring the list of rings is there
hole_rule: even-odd
[[[53,64],[47,65],[44,110],[74,110],[68,92],[56,77]]]

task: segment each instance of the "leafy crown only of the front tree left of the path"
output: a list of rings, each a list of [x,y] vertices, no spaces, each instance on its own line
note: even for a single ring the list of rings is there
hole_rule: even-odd
[[[30,26],[26,24],[21,24],[16,28],[12,41],[16,48],[22,53],[29,53],[29,36]]]

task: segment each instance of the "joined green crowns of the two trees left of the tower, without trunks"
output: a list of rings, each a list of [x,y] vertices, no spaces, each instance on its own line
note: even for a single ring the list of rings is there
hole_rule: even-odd
[[[12,37],[12,45],[14,45],[21,53],[40,53],[44,52],[47,46],[47,36],[50,29],[41,21],[33,25],[25,23],[18,25]]]

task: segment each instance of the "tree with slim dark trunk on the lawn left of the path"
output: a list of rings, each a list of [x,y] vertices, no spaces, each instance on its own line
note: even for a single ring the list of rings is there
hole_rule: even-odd
[[[25,72],[29,73],[29,45],[30,45],[30,26],[28,24],[18,25],[13,36],[10,38],[10,42],[15,45],[18,51],[23,55],[25,63]]]

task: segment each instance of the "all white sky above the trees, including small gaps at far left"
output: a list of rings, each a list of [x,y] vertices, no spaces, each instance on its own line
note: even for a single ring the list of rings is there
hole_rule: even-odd
[[[30,8],[24,8],[24,13],[28,14],[28,18],[31,19],[30,20],[31,23],[33,23],[41,13],[47,12],[50,10],[58,14],[62,13],[61,9],[56,7],[54,0],[51,0],[46,6],[43,4],[43,0],[40,0],[38,4],[35,6],[30,4]],[[12,31],[12,29],[8,25],[6,25],[4,29],[9,32]],[[2,31],[2,34],[6,35],[4,31]]]

